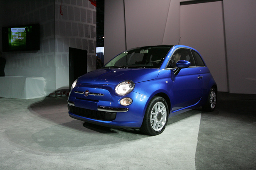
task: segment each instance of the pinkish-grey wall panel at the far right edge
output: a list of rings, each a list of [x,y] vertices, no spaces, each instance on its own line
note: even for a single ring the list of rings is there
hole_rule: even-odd
[[[256,1],[223,0],[230,93],[256,94]]]

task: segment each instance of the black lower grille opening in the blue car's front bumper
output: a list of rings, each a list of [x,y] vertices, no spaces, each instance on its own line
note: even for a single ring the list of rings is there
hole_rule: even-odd
[[[85,108],[78,108],[72,105],[69,105],[69,111],[74,115],[87,117],[90,119],[96,119],[96,120],[111,121],[111,120],[115,120],[116,118],[116,113],[107,113],[103,111],[89,110]]]

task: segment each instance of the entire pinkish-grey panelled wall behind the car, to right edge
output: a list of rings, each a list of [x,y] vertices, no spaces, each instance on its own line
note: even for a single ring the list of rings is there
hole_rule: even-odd
[[[185,16],[203,29],[194,30],[194,42],[182,37],[180,43],[202,53],[219,90],[256,94],[256,1],[202,3],[199,13],[181,11],[181,1],[105,0],[105,63],[126,46],[177,44],[181,35],[190,36],[191,28],[181,23]]]

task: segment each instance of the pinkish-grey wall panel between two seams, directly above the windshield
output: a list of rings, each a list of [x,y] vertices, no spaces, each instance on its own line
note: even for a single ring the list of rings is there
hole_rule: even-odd
[[[170,0],[125,0],[127,48],[161,45]]]

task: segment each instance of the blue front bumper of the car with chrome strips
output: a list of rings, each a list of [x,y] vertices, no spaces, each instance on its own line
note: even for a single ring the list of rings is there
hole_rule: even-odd
[[[74,93],[74,91],[94,91],[105,94],[104,96],[87,96]],[[143,122],[145,106],[148,97],[136,92],[131,92],[126,96],[111,95],[109,91],[102,88],[81,88],[73,89],[69,95],[68,108],[69,116],[84,122],[108,127],[133,127],[138,128]],[[106,93],[107,92],[107,93]],[[133,103],[122,106],[119,101],[124,97],[130,97]]]

